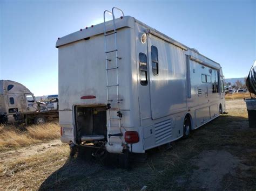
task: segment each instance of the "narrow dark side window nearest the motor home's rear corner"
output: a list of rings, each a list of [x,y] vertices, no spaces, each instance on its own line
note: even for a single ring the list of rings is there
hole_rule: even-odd
[[[142,86],[147,85],[147,56],[139,53],[139,79]]]

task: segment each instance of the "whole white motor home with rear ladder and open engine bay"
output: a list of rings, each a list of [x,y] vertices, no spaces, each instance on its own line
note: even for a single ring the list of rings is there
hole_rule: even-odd
[[[114,10],[57,40],[63,143],[144,153],[225,112],[219,63]]]

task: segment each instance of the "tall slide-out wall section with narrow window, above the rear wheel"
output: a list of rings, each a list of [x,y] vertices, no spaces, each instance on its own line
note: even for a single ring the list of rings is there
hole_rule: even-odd
[[[181,48],[148,37],[151,113],[157,119],[186,109],[186,58]]]

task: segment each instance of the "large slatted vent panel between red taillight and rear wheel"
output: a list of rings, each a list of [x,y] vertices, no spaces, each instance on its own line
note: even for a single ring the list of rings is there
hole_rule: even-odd
[[[166,121],[154,124],[156,143],[160,143],[172,136],[172,126],[173,125],[171,119],[167,119]]]

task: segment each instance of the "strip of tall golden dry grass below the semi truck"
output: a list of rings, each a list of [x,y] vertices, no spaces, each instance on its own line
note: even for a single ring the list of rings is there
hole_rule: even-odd
[[[46,140],[59,138],[59,125],[46,123],[16,128],[14,125],[0,126],[0,151],[28,146]]]

